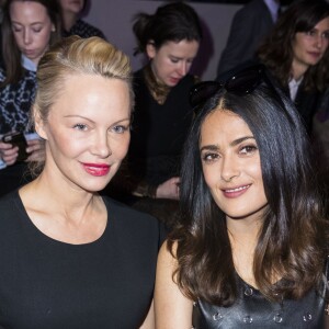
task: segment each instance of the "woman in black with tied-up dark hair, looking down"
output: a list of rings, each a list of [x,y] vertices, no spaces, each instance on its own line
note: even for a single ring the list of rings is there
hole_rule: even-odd
[[[138,206],[156,216],[168,215],[160,204],[177,206],[179,162],[193,112],[189,91],[195,83],[190,68],[202,31],[192,7],[173,2],[154,14],[135,16],[137,52],[149,63],[134,73],[135,112],[128,152],[126,190]],[[124,173],[122,175],[125,175]],[[140,197],[141,196],[141,197]],[[157,201],[155,198],[161,198]]]

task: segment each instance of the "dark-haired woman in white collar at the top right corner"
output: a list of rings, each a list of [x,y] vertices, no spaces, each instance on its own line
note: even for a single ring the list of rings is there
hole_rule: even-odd
[[[329,3],[303,0],[279,18],[257,54],[295,102],[308,133],[328,88],[328,45]]]

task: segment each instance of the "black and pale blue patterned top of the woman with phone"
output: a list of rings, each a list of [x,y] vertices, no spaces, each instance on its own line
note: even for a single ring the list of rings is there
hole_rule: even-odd
[[[5,79],[0,67],[0,81]],[[10,132],[29,132],[30,109],[35,98],[36,73],[25,70],[18,83],[0,89],[0,135]]]

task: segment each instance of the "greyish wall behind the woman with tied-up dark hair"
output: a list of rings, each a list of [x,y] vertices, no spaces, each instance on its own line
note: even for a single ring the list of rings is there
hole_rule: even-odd
[[[163,1],[149,0],[93,0],[83,20],[101,29],[111,43],[129,55],[133,69],[136,70],[141,66],[143,57],[133,56],[136,43],[132,32],[132,18],[140,11],[154,13],[162,3]],[[204,25],[204,41],[192,72],[203,80],[211,80],[216,77],[218,59],[226,44],[232,15],[240,5],[203,2],[190,4]]]

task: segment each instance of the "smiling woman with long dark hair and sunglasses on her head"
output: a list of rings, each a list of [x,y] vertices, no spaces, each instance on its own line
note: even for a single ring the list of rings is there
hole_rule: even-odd
[[[158,260],[158,329],[322,328],[328,223],[310,146],[291,101],[263,77],[253,67],[211,94],[195,88],[183,217]]]

